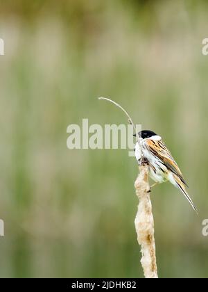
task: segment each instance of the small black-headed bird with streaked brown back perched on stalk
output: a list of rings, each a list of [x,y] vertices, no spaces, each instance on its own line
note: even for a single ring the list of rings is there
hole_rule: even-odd
[[[148,130],[140,131],[139,138],[140,144],[137,141],[135,145],[135,156],[138,163],[142,157],[146,159],[151,179],[153,179],[156,184],[170,181],[173,186],[176,186],[182,191],[193,209],[197,212],[196,206],[194,206],[187,193],[187,184],[182,177],[182,172],[173,159],[171,152],[169,152],[164,144],[162,138],[153,131]]]

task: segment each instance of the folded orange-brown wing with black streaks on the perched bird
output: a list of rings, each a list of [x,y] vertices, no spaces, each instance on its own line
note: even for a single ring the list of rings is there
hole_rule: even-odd
[[[177,175],[177,177],[179,177],[181,181],[187,186],[184,178],[182,177],[180,168],[177,166],[177,163],[173,159],[171,152],[169,152],[164,142],[162,140],[147,139],[146,144],[148,145],[150,152],[157,156],[162,161],[162,163],[164,163],[166,168],[175,173],[175,175]]]

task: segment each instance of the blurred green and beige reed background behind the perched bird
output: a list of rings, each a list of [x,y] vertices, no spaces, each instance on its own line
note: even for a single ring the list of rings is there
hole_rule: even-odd
[[[207,277],[206,1],[2,1],[0,277],[143,277],[137,163],[127,150],[69,150],[67,126],[159,133],[200,210],[154,188],[159,277]]]

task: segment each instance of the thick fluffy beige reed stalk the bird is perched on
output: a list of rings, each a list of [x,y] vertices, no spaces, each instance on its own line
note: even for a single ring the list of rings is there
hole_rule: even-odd
[[[150,201],[150,185],[148,182],[148,165],[139,166],[139,175],[135,181],[135,189],[139,198],[135,227],[137,241],[141,245],[141,265],[146,278],[158,278],[155,254],[154,219]]]

